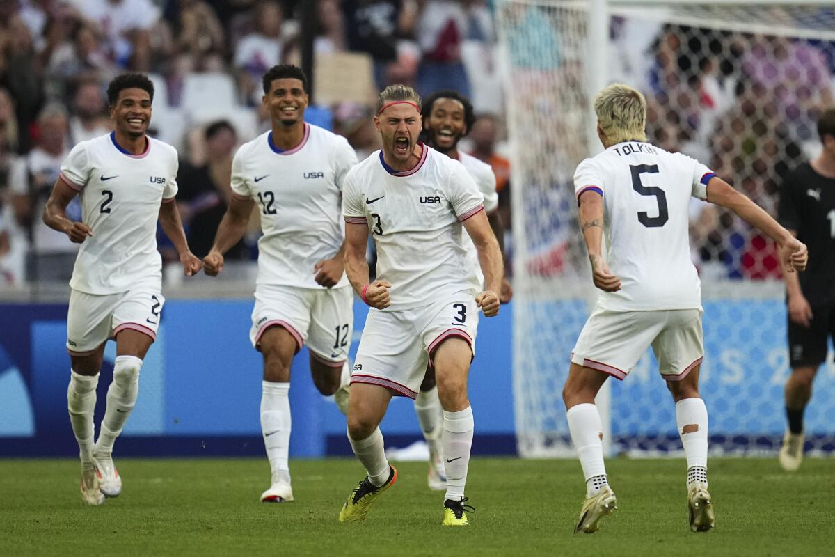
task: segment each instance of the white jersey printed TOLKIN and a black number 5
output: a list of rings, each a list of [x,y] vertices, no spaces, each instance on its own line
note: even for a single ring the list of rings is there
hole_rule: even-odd
[[[603,195],[606,261],[620,278],[620,291],[600,292],[600,307],[701,307],[688,215],[691,196],[706,199],[713,175],[684,154],[638,141],[612,145],[580,163],[574,191],[578,197],[590,189]]]

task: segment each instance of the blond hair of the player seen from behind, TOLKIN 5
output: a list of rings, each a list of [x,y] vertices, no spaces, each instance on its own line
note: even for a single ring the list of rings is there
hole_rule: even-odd
[[[625,84],[603,88],[595,96],[595,113],[610,144],[646,141],[646,99],[637,89]]]

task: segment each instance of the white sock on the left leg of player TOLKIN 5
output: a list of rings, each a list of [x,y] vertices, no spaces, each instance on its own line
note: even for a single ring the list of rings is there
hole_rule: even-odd
[[[594,404],[577,404],[569,408],[566,418],[569,420],[571,441],[583,467],[586,497],[591,497],[608,483],[603,462],[603,440],[600,438],[603,430],[600,413]]]

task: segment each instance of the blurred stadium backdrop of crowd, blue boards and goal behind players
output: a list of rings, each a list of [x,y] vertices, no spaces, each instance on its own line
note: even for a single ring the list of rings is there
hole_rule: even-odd
[[[650,141],[711,165],[776,215],[782,176],[817,152],[813,123],[832,104],[835,8],[813,0],[0,3],[0,455],[78,451],[63,349],[76,247],[40,214],[68,150],[108,131],[109,79],[128,69],[152,76],[151,128],[180,151],[178,203],[192,250],[205,256],[230,195],[235,147],[269,126],[261,74],[279,62],[312,76],[307,119],[345,135],[360,157],[378,148],[372,104],[386,84],[473,99],[479,118],[463,148],[496,172],[515,290],[478,334],[473,451],[569,456],[560,392],[595,295],[571,185],[574,167],[600,149],[590,92],[615,80],[639,88]],[[258,235],[256,221],[220,280],[184,280],[160,233],[168,301],[118,456],[263,454],[261,358],[247,338]],[[774,246],[698,201],[691,246],[706,310],[711,449],[775,454],[789,370]],[[354,350],[366,311],[355,307]],[[99,382],[102,407],[114,352]],[[344,418],[312,387],[306,355],[295,361],[291,457],[350,453]],[[611,453],[677,451],[674,406],[654,366],[648,354],[600,400]],[[833,423],[830,353],[807,410],[807,448],[832,453]],[[382,429],[390,446],[416,441],[411,403],[392,403]]]

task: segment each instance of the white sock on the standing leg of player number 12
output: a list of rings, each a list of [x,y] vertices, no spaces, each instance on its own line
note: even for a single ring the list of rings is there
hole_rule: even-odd
[[[290,484],[290,383],[261,382],[261,434],[270,460],[272,483]]]

